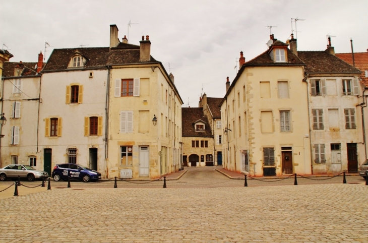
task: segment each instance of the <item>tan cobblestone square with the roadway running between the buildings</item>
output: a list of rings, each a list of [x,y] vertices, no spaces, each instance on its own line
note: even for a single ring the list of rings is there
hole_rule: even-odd
[[[0,198],[0,242],[368,242],[368,186],[349,177],[348,184],[243,187],[190,168],[166,189],[162,181],[149,188],[52,181],[51,190],[20,187],[20,196]]]

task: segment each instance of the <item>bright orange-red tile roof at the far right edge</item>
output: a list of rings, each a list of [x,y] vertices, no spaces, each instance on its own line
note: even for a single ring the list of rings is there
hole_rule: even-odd
[[[346,63],[353,65],[353,57],[351,53],[336,53],[336,56],[344,60]],[[359,69],[361,82],[365,87],[368,87],[368,77],[365,77],[365,70],[368,70],[368,51],[354,53],[355,68]]]

